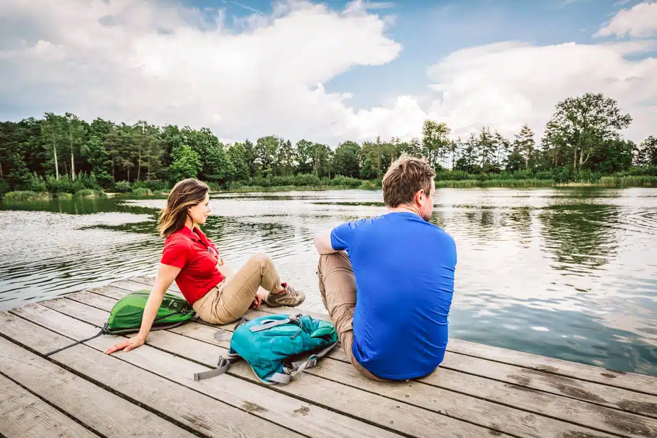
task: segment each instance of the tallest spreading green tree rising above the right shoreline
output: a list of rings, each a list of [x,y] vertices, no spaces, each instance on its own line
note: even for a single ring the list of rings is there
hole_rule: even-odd
[[[622,114],[617,102],[602,93],[569,97],[556,104],[545,127],[544,143],[561,155],[569,153],[573,170],[578,170],[604,142],[620,140],[621,131],[631,122],[630,114]],[[558,165],[558,155],[554,153],[554,166]]]

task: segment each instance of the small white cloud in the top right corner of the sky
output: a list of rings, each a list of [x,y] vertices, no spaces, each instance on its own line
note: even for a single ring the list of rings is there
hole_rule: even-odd
[[[657,31],[657,2],[646,1],[632,9],[620,10],[609,23],[594,36],[617,37],[629,35],[636,38],[653,36]]]

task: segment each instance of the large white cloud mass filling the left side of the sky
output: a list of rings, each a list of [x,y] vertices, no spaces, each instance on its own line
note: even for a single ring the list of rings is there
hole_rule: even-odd
[[[153,1],[3,2],[0,16],[32,31],[0,52],[0,97],[65,104],[84,118],[208,125],[224,138],[331,138],[348,96],[321,84],[401,50],[368,8],[288,1],[235,31]]]

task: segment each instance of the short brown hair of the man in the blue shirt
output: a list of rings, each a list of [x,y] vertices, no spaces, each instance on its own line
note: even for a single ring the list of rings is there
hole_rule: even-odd
[[[429,196],[435,176],[436,172],[425,159],[403,154],[383,176],[383,202],[390,208],[412,203],[413,196],[421,189]]]

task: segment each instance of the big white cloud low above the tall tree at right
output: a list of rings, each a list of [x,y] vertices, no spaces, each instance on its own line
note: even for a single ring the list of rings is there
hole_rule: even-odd
[[[626,55],[655,48],[657,41],[503,42],[457,51],[429,70],[439,84],[433,88],[442,92],[429,115],[462,135],[482,126],[511,135],[524,123],[540,132],[558,101],[603,92],[634,116],[628,137],[638,140],[654,129],[647,114],[654,116],[657,109],[657,60],[628,60]]]

